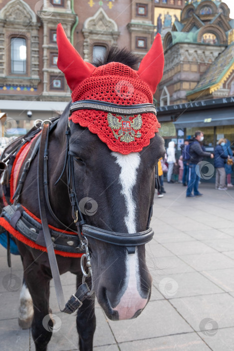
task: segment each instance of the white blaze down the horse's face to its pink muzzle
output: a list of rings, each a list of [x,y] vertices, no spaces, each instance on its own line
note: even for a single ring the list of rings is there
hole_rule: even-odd
[[[112,152],[116,157],[116,163],[121,168],[119,175],[119,183],[121,184],[121,194],[125,199],[126,215],[124,221],[128,233],[136,232],[136,204],[132,195],[132,190],[137,180],[137,169],[140,165],[140,155],[137,152],[122,155],[117,152]],[[126,281],[118,293],[121,296],[119,304],[113,308],[119,313],[119,319],[129,319],[134,314],[145,307],[147,299],[142,298],[139,294],[140,289],[140,274],[139,274],[139,259],[138,250],[134,254],[126,252]]]

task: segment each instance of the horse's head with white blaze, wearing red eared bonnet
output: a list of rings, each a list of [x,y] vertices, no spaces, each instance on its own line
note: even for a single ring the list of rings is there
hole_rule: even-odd
[[[120,62],[84,62],[61,25],[57,42],[58,67],[72,89],[69,152],[79,208],[93,233],[88,241],[94,290],[110,319],[133,318],[151,292],[145,245],[116,244],[108,235],[127,241],[141,237],[149,224],[155,165],[165,153],[152,105],[163,71],[160,35],[138,71]]]

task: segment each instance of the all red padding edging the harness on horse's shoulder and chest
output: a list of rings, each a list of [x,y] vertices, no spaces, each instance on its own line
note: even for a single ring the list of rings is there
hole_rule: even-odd
[[[24,162],[26,161],[26,158],[30,155],[30,150],[33,149],[32,145],[34,144],[34,141],[36,140],[36,138],[38,137],[39,134],[37,134],[30,142],[26,143],[25,145],[22,146],[22,148],[20,149],[20,151],[18,152],[16,159],[14,161],[13,167],[12,167],[12,172],[11,172],[11,178],[10,178],[10,192],[11,192],[11,203],[13,204],[13,195],[16,191],[17,188],[17,184],[18,181],[20,179],[20,173],[22,170],[22,166],[24,165]],[[3,195],[3,201],[5,203],[5,205],[9,205],[7,202],[7,199],[5,198],[5,196]],[[33,213],[31,213],[28,209],[26,209],[24,206],[22,206],[24,208],[24,210],[32,217],[34,218],[37,222],[42,223],[42,221],[37,218]],[[11,233],[16,239],[18,239],[19,241],[23,242],[24,244],[34,248],[34,249],[38,249],[44,252],[47,252],[46,247],[41,246],[36,244],[35,242],[33,242],[32,240],[26,238],[23,234],[21,234],[19,231],[17,231],[16,229],[14,229],[9,223],[8,221],[3,218],[0,217],[0,226],[4,227],[9,233]],[[68,232],[66,230],[63,229],[58,229],[55,228],[51,225],[49,225],[49,228],[54,229],[58,232],[61,233],[66,233],[66,234],[70,234],[70,235],[77,235],[74,232]],[[59,250],[55,250],[55,253],[57,255],[60,256],[64,256],[64,257],[81,257],[82,253],[72,253],[72,252],[64,252],[64,251],[59,251]]]

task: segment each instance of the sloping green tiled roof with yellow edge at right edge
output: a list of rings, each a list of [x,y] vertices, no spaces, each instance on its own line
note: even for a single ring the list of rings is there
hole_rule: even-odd
[[[194,94],[218,84],[234,64],[233,50],[234,43],[231,43],[205,71],[195,89],[189,91],[186,95]]]

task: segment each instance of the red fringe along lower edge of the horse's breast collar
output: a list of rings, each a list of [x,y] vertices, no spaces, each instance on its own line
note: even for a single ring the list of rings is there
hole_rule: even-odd
[[[38,249],[38,250],[47,252],[47,249],[44,246],[41,246],[41,245],[34,243],[32,240],[26,238],[24,235],[22,235],[20,232],[18,232],[18,230],[14,229],[5,218],[3,218],[3,217],[0,218],[0,225],[2,227],[4,227],[9,233],[11,233],[16,239],[20,240],[22,243],[32,247],[33,249]],[[76,253],[71,253],[71,252],[63,252],[63,251],[59,251],[59,250],[55,250],[55,254],[60,255],[60,256],[64,256],[64,257],[75,257],[75,258],[82,256],[81,253],[76,254]]]

